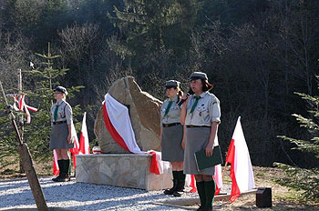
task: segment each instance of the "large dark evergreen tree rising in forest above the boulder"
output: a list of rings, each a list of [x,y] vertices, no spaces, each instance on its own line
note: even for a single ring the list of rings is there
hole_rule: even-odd
[[[127,0],[124,11],[115,7],[116,17],[108,14],[119,29],[119,40],[109,40],[108,45],[122,58],[129,58],[139,75],[159,71],[160,61],[154,60],[160,54],[181,57],[187,52],[200,7],[197,0]]]

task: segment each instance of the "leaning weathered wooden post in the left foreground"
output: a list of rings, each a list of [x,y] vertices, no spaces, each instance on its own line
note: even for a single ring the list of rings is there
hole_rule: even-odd
[[[26,171],[27,181],[29,182],[32,195],[35,198],[37,210],[48,211],[48,208],[46,206],[46,199],[45,199],[45,196],[43,195],[42,187],[40,186],[39,180],[37,178],[36,169],[33,166],[32,157],[30,155],[29,148],[27,147],[25,143],[23,143],[21,139],[19,130],[15,123],[15,116],[12,114],[12,106],[8,105],[8,102],[5,97],[5,90],[4,90],[4,87],[2,86],[1,81],[0,81],[0,88],[5,98],[5,104],[7,105],[6,111],[9,114],[12,126],[14,127],[14,130],[15,130],[16,140],[18,144],[17,152],[20,155],[22,166],[24,170]]]

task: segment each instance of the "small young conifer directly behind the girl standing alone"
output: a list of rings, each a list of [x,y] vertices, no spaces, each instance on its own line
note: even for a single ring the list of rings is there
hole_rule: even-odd
[[[60,55],[52,55],[50,44],[48,43],[47,54],[36,54],[44,62],[34,70],[28,71],[27,74],[35,78],[35,90],[29,96],[31,105],[38,105],[38,111],[35,113],[30,125],[26,125],[26,140],[33,156],[41,159],[52,159],[48,148],[50,140],[50,119],[51,106],[53,105],[53,88],[61,85],[58,79],[67,74],[67,68],[55,68],[54,61],[60,58]],[[72,98],[75,92],[79,92],[84,86],[78,85],[67,88],[67,97]],[[77,105],[73,107],[73,118],[81,116],[82,111]]]

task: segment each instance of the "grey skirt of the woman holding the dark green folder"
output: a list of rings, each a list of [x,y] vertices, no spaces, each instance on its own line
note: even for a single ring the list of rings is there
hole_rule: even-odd
[[[194,154],[205,149],[210,141],[210,127],[190,127],[186,129],[186,144],[184,154],[184,174],[188,175],[215,175],[215,167],[197,170]]]

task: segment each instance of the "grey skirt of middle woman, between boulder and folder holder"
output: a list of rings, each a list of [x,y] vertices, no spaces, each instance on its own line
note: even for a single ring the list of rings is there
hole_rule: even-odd
[[[163,127],[161,138],[161,159],[182,162],[184,160],[184,149],[181,147],[183,126]]]

